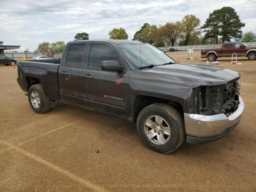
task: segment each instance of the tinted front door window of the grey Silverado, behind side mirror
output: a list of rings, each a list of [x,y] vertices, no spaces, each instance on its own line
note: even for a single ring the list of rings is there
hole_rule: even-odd
[[[114,50],[106,45],[92,44],[88,68],[101,70],[101,62],[108,60],[118,61],[118,55],[114,52]]]

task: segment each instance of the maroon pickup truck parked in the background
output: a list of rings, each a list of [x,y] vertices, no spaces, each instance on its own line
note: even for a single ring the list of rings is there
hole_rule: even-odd
[[[233,53],[236,53],[238,57],[256,60],[256,46],[247,46],[242,42],[228,42],[223,43],[220,49],[201,50],[201,58],[215,61],[218,57],[231,57]]]

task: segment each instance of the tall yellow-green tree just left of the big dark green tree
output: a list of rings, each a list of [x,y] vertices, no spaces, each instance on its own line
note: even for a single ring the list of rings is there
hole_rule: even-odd
[[[189,44],[190,37],[198,36],[201,34],[200,19],[194,15],[185,15],[181,21],[182,38],[184,45]]]

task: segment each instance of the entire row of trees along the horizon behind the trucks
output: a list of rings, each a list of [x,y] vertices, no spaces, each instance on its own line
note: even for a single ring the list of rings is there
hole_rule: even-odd
[[[165,25],[144,23],[140,30],[136,31],[132,40],[145,40],[156,46],[174,45],[197,45],[197,44],[221,44],[230,40],[253,42],[256,35],[253,32],[242,34],[242,23],[238,14],[231,7],[222,7],[209,14],[205,23],[195,15],[185,15],[181,21],[167,22]],[[203,35],[204,33],[204,35]],[[114,28],[108,33],[110,39],[127,40],[128,34],[124,28]],[[78,33],[74,40],[88,40],[89,34]],[[50,44],[42,42],[38,45],[36,52],[46,53],[48,51],[63,52],[65,42],[58,41]],[[26,51],[28,52],[27,48]]]

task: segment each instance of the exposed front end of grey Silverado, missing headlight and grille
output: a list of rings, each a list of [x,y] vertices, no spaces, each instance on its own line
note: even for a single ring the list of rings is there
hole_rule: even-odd
[[[202,115],[225,114],[228,117],[238,108],[240,87],[240,77],[224,85],[200,86],[197,113]]]

